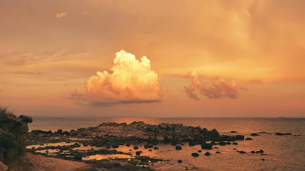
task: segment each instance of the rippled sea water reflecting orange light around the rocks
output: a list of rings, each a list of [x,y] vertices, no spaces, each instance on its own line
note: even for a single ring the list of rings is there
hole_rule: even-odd
[[[202,150],[199,157],[192,157],[191,153],[201,150],[200,146],[182,146],[182,150],[175,150],[175,146],[160,144],[158,151],[148,152],[140,147],[145,155],[150,157],[170,159],[169,162],[158,162],[152,168],[156,170],[305,170],[305,118],[34,118],[28,124],[29,131],[34,129],[56,131],[63,129],[70,131],[81,127],[98,126],[103,122],[117,122],[127,124],[133,121],[143,121],[149,124],[182,123],[188,126],[201,126],[211,130],[216,128],[220,134],[245,135],[252,141],[236,141],[238,145],[215,146],[219,149]],[[235,130],[237,133],[231,133]],[[250,136],[257,132],[259,136]],[[275,135],[275,132],[292,133],[293,135]],[[143,148],[143,149],[141,149]],[[246,151],[240,154],[233,150]],[[263,154],[251,154],[259,151]],[[128,151],[126,146],[120,146],[118,151]],[[205,156],[205,152],[210,156]],[[221,152],[216,154],[216,152]],[[261,159],[264,158],[265,161]],[[177,163],[182,160],[182,163]],[[196,168],[193,168],[196,167]]]

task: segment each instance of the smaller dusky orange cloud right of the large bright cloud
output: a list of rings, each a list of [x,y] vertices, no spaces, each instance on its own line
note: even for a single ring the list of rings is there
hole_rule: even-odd
[[[197,71],[193,70],[188,74],[188,78],[191,80],[191,85],[185,86],[185,92],[188,97],[195,100],[200,100],[196,94],[198,90],[199,94],[212,99],[220,99],[223,97],[237,98],[238,96],[238,82],[236,80],[225,80],[222,77],[217,77],[211,84],[202,82],[199,80]],[[246,87],[240,87],[246,90]],[[248,91],[247,89],[246,91]]]

